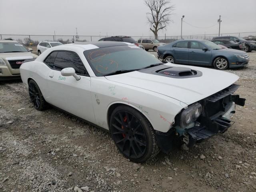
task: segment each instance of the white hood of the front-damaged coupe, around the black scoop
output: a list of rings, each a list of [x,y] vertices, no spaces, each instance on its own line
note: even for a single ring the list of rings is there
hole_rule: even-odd
[[[188,105],[227,88],[239,78],[234,74],[209,68],[170,63],[165,65],[166,67],[188,67],[202,72],[202,76],[192,78],[172,78],[134,71],[124,74],[105,76],[105,78],[110,81],[163,94]]]

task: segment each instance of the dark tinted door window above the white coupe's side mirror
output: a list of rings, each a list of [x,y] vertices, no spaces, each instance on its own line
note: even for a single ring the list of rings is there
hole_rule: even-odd
[[[53,68],[57,70],[62,70],[67,67],[74,68],[77,74],[88,75],[84,64],[76,53],[59,51],[55,58]]]

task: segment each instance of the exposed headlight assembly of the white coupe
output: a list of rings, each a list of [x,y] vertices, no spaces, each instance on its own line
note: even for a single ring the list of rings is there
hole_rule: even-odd
[[[200,103],[195,103],[191,106],[188,106],[185,110],[182,111],[180,116],[181,127],[185,128],[191,122],[196,121],[202,112],[202,105]]]

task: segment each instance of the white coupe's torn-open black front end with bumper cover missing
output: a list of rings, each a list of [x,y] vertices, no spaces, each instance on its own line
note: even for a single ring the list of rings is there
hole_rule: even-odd
[[[179,134],[175,127],[168,132],[156,131],[158,146],[163,152],[170,152],[174,145],[185,143],[188,147],[200,143],[218,133],[223,133],[234,122],[230,120],[235,113],[236,104],[244,106],[245,99],[233,94],[239,86],[233,84],[220,92],[201,100],[204,112],[196,120],[192,128],[184,128],[183,134]]]

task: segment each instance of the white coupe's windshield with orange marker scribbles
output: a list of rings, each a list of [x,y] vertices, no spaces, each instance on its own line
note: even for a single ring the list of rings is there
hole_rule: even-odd
[[[119,70],[138,70],[150,65],[161,63],[152,54],[136,45],[112,46],[84,51],[96,76]]]

